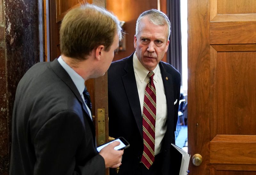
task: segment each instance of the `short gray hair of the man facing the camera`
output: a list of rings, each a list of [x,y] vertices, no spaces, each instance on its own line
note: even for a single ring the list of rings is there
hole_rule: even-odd
[[[171,34],[171,23],[170,20],[168,19],[168,17],[166,16],[166,14],[164,14],[163,12],[156,10],[156,9],[151,9],[148,11],[145,11],[143,13],[140,14],[139,18],[137,19],[136,22],[136,36],[138,35],[139,32],[139,24],[140,21],[145,17],[148,16],[149,20],[157,25],[157,26],[164,26],[167,25],[168,27],[168,36],[167,36],[167,40],[170,37]]]

